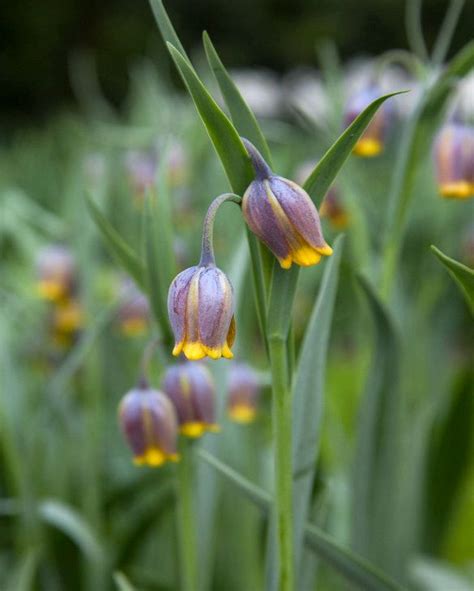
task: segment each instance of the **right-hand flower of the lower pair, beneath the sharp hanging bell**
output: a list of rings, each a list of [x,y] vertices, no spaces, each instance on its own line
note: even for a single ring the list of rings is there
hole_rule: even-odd
[[[162,383],[178,415],[179,430],[187,437],[217,432],[215,387],[209,370],[201,363],[180,363],[167,369]]]

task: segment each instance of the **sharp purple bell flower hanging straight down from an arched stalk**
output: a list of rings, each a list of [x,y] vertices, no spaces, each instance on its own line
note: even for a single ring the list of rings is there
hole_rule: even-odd
[[[214,264],[182,271],[168,292],[168,314],[174,332],[173,355],[191,360],[233,357],[234,303],[230,281]]]

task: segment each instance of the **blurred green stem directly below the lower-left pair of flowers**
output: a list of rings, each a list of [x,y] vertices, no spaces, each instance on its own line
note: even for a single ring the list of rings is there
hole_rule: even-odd
[[[193,507],[193,448],[184,439],[181,445],[181,461],[178,463],[178,527],[181,560],[181,589],[196,591],[198,588],[196,555],[196,521]]]

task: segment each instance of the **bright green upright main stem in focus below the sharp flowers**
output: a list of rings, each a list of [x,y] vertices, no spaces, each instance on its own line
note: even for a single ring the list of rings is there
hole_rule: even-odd
[[[293,491],[291,458],[291,392],[285,340],[270,337],[275,442],[275,513],[279,589],[293,591]]]

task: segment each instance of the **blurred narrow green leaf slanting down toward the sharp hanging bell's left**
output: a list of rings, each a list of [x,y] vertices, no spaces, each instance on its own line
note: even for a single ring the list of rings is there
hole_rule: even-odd
[[[92,219],[94,220],[104,242],[109,248],[111,254],[125,271],[133,277],[140,287],[144,287],[145,270],[138,255],[123,240],[117,230],[110,224],[108,219],[100,211],[97,205],[90,199],[87,199]]]

